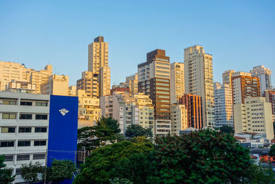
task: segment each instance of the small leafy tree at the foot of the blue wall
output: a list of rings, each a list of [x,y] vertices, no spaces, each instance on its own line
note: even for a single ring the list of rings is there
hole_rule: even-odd
[[[59,183],[65,179],[72,179],[76,172],[76,165],[69,160],[54,160],[51,167],[47,168],[46,181]]]

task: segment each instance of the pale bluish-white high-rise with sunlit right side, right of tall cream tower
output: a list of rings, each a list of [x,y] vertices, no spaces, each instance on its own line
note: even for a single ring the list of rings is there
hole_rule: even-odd
[[[214,83],[214,110],[216,127],[234,127],[232,88],[230,84]]]

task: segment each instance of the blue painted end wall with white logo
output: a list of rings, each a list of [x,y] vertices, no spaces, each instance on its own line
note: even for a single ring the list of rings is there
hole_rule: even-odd
[[[68,112],[61,114],[59,110]],[[47,165],[54,159],[75,162],[78,132],[78,97],[50,96],[49,139]],[[72,183],[66,181],[65,183]]]

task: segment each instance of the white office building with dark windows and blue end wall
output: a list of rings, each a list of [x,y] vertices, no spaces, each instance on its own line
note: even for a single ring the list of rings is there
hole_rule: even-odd
[[[77,124],[78,97],[0,92],[0,154],[16,175],[14,183],[24,182],[24,163],[74,161]]]

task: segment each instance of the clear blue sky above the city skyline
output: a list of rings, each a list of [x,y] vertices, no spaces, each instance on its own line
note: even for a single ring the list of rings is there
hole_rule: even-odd
[[[225,70],[265,65],[274,74],[275,1],[3,1],[0,61],[39,70],[47,63],[76,84],[87,70],[88,44],[109,42],[111,84],[137,72],[146,53],[166,50],[184,61],[184,48],[213,55],[214,81]]]

